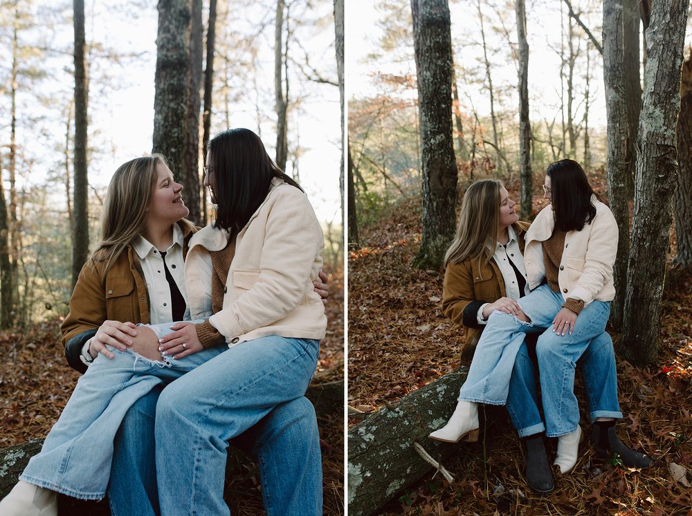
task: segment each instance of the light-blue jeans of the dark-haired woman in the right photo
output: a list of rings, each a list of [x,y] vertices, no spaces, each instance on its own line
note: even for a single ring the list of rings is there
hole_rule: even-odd
[[[551,326],[563,302],[564,299],[561,293],[553,292],[549,286],[543,285],[518,300],[519,305],[531,322],[520,321],[507,313],[493,312],[478,341],[471,367],[468,369],[468,376],[459,390],[458,399],[489,405],[504,405],[507,403],[509,380],[514,369],[516,356],[524,342],[525,333],[540,333]],[[610,303],[592,301],[583,308],[579,317],[577,317],[572,335],[558,336],[553,331],[542,333],[538,337],[537,355],[538,347],[544,337],[570,342],[574,350],[578,349],[578,353],[570,354],[574,358],[574,362],[572,362],[572,386],[574,386],[574,363],[581,356],[592,338],[603,333],[609,314]],[[538,365],[541,371],[540,386],[543,396],[543,410],[546,416],[548,432],[550,432],[551,427],[548,424],[547,411],[552,409],[552,407],[550,405],[546,406],[545,400],[553,399],[555,396],[562,397],[565,392],[563,392],[563,389],[555,391],[546,390],[546,385],[543,383],[543,377],[546,375],[543,374],[544,368],[541,367],[540,355]],[[546,364],[545,367],[549,368],[550,365]],[[573,392],[571,396],[574,398]],[[579,416],[579,407],[576,407],[576,414]],[[579,417],[577,417],[577,421],[579,421]],[[572,431],[574,429],[576,429],[576,424]]]

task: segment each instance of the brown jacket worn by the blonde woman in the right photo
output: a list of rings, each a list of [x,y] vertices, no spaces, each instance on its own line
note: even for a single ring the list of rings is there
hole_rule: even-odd
[[[513,225],[522,252],[529,225],[522,221]],[[483,331],[482,324],[477,321],[478,308],[506,295],[502,273],[494,259],[480,264],[480,259],[473,258],[447,266],[442,286],[442,313],[459,326],[464,326],[466,343],[462,349],[462,362],[473,356]]]

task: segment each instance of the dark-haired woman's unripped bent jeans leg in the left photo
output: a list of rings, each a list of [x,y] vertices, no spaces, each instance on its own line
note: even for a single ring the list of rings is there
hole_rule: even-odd
[[[250,340],[209,360],[163,391],[156,405],[156,474],[164,516],[229,514],[223,499],[228,441],[279,403],[305,393],[318,349],[316,340],[277,335]],[[289,448],[282,453],[296,454],[296,461],[303,460],[298,450]],[[273,467],[266,457],[260,461]],[[315,497],[303,499],[292,494],[286,493],[280,507],[270,505],[266,510],[321,514]],[[271,500],[265,498],[265,504]]]

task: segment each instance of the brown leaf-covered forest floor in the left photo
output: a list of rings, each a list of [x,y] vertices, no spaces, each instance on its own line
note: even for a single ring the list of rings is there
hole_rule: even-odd
[[[316,374],[343,380],[344,275],[341,268],[325,268],[325,272],[329,274],[329,324],[327,337],[320,345]],[[0,332],[0,356],[0,448],[44,438],[80,377],[65,360],[60,321],[38,324],[26,331]],[[325,515],[343,515],[343,411],[318,414],[318,425]],[[233,468],[226,478],[225,498],[233,515],[264,514],[260,477],[253,461],[241,461]]]

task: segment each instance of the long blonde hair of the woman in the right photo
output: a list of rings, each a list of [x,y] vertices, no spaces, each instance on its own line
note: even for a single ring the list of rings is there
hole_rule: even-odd
[[[487,264],[493,257],[500,223],[502,181],[482,179],[468,187],[462,200],[457,234],[444,256],[444,266],[480,258]],[[479,265],[480,265],[479,264]]]

